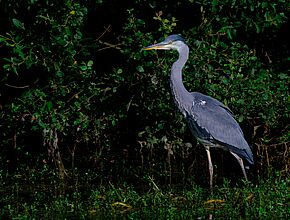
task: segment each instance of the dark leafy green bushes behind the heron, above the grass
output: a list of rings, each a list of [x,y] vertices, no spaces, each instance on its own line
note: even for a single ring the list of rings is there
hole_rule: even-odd
[[[196,170],[205,164],[196,165],[204,163],[203,151],[193,148],[169,92],[168,74],[177,55],[142,50],[180,30],[191,48],[186,87],[228,105],[252,145],[273,150],[289,144],[289,53],[277,52],[283,43],[266,48],[262,37],[272,39],[289,25],[288,1],[188,1],[199,14],[196,23],[184,24],[183,13],[180,17],[175,9],[179,1],[159,6],[136,0],[127,3],[116,22],[119,29],[94,17],[103,9],[108,10],[104,17],[119,11],[103,1],[2,4],[7,15],[0,30],[4,153],[29,152],[25,158],[34,161],[39,149],[46,154],[44,143],[63,173],[61,159],[74,167],[78,158],[78,165],[95,164],[96,172],[110,178],[150,174],[166,183],[192,181],[189,176],[198,176]],[[262,48],[252,41],[261,41]],[[32,134],[38,143],[27,140]],[[273,158],[285,161],[287,170],[287,150],[281,149],[272,151]],[[276,163],[263,156],[266,148],[258,153],[261,164]]]

